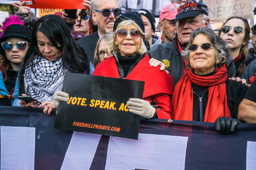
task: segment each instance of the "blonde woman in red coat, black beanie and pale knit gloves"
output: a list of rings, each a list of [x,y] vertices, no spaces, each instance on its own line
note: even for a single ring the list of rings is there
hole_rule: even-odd
[[[144,81],[143,99],[129,99],[129,112],[145,118],[170,119],[172,78],[165,71],[148,64],[141,17],[137,13],[127,12],[116,19],[113,30],[110,46],[113,56],[100,62],[93,75]],[[56,93],[55,106],[58,106],[58,99],[66,98],[67,101],[68,96],[64,92]]]

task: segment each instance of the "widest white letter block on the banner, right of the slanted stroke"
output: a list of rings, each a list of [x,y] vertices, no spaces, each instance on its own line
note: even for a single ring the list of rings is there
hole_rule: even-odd
[[[105,170],[185,169],[187,140],[182,136],[142,133],[138,140],[111,136]]]

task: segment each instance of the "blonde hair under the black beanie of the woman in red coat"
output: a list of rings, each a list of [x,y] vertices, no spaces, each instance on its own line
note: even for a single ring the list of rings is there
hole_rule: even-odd
[[[127,26],[131,23],[134,24],[138,28],[138,30],[141,32],[140,47],[139,47],[137,53],[138,54],[144,54],[145,52],[147,52],[146,46],[145,46],[144,41],[143,41],[144,33],[136,22],[134,22],[133,20],[130,20],[130,19],[129,20],[123,20],[118,24],[118,26],[116,27],[116,30],[122,29],[122,28],[124,28],[125,26]],[[115,44],[116,36],[117,36],[117,34],[116,34],[116,31],[115,31],[115,32],[113,32],[113,39],[112,39],[112,42],[111,42],[111,45],[110,45],[110,50],[113,51],[114,53],[120,53],[118,45]]]

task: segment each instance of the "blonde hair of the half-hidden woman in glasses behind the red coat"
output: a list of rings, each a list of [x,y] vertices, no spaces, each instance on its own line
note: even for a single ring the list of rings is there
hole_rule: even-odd
[[[94,57],[93,57],[94,68],[96,68],[96,66],[100,63],[100,58],[97,54],[99,53],[99,45],[102,40],[104,40],[110,46],[110,43],[112,41],[112,34],[104,34],[99,38],[99,40],[96,44],[96,49],[95,49]],[[108,48],[108,53],[111,53],[109,48]]]

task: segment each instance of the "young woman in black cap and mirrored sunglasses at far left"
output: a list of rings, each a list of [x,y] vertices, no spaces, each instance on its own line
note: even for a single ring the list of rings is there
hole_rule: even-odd
[[[15,82],[18,76],[23,58],[28,50],[31,31],[21,24],[11,24],[4,30],[0,38],[0,71],[6,90],[13,95]],[[1,94],[0,94],[1,95]]]

